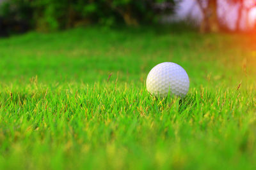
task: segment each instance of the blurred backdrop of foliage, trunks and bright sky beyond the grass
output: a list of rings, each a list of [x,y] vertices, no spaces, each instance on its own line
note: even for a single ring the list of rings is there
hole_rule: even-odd
[[[200,32],[253,32],[255,0],[0,0],[0,36],[102,25],[184,22]]]

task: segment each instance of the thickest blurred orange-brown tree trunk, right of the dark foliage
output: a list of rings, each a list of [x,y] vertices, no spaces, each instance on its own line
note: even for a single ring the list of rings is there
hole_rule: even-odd
[[[220,26],[218,22],[218,13],[217,13],[217,0],[209,0],[208,1],[208,9],[207,9],[207,18],[209,20],[209,31],[210,32],[218,32],[220,31]]]

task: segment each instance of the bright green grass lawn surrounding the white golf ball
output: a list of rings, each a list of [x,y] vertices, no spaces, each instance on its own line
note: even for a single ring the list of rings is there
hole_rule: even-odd
[[[0,168],[255,169],[253,42],[100,27],[0,39]],[[165,61],[186,69],[184,99],[148,94]]]

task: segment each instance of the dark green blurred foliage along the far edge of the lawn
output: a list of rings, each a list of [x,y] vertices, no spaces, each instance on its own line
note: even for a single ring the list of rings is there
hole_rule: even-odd
[[[26,25],[54,31],[89,24],[154,24],[174,8],[173,0],[6,0],[0,16],[7,24],[20,24],[21,30]]]

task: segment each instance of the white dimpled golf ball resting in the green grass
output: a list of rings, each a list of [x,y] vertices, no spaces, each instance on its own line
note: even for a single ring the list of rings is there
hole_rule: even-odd
[[[163,62],[153,67],[147,76],[147,90],[154,96],[170,94],[185,97],[189,89],[186,71],[173,62]]]

